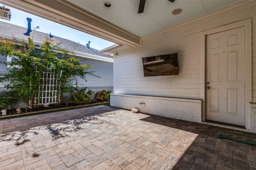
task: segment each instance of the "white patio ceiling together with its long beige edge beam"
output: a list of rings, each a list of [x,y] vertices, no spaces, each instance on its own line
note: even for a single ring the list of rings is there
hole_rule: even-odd
[[[238,2],[239,1],[239,2]],[[138,47],[142,37],[218,8],[246,3],[245,0],[146,0],[138,14],[140,0],[6,0],[6,5],[68,27],[106,39],[116,45],[102,50],[110,54]],[[111,6],[104,6],[109,2]],[[173,15],[175,9],[182,9]],[[220,12],[222,10],[218,10]],[[196,18],[195,18],[196,19]]]

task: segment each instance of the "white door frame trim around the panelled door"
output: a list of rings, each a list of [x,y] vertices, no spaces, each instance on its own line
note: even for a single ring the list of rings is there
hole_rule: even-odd
[[[250,102],[252,102],[252,19],[238,21],[208,29],[201,32],[201,98],[202,122],[206,120],[206,36],[227,31],[238,27],[245,27],[245,128],[250,129]]]

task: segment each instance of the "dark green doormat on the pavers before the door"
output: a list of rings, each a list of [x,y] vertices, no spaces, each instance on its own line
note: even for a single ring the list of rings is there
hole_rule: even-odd
[[[256,137],[252,137],[248,135],[241,135],[241,134],[232,133],[232,132],[220,131],[217,137],[256,146]]]

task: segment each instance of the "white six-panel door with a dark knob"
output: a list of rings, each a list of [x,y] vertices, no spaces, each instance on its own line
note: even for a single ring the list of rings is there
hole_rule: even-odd
[[[206,120],[245,126],[245,28],[206,36]]]

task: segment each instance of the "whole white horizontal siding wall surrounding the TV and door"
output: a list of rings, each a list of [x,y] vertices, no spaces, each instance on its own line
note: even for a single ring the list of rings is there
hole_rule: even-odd
[[[204,101],[202,32],[238,21],[252,20],[252,101],[256,102],[256,1],[241,1],[193,20],[142,37],[142,46],[118,51],[114,59],[114,93]],[[246,44],[250,47],[251,44]],[[179,75],[144,77],[142,57],[178,52]],[[114,96],[111,96],[113,99]],[[202,110],[204,106],[202,105]],[[124,107],[126,108],[126,107]],[[130,109],[130,108],[127,108]],[[249,113],[250,108],[246,109]],[[249,115],[246,113],[246,117]],[[158,114],[158,113],[155,113]],[[203,115],[202,115],[203,117]],[[246,118],[249,119],[249,118]],[[248,120],[246,121],[248,122]],[[249,125],[250,126],[250,125]],[[246,127],[249,127],[246,125]]]

